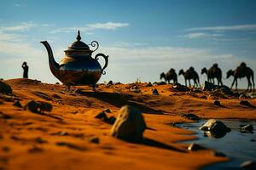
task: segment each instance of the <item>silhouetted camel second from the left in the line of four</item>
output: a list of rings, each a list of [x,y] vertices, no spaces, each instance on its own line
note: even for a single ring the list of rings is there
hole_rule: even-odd
[[[200,85],[200,81],[199,81],[199,76],[198,76],[198,74],[197,74],[197,72],[195,71],[195,69],[194,69],[194,67],[190,67],[189,68],[189,70],[187,70],[187,71],[183,71],[183,69],[182,70],[180,70],[179,72],[178,72],[178,76],[180,76],[180,75],[183,75],[183,77],[185,78],[185,85],[187,86],[187,80],[189,81],[189,87],[191,86],[191,84],[190,84],[190,79],[193,79],[194,80],[194,86],[195,87],[201,87],[201,85]]]

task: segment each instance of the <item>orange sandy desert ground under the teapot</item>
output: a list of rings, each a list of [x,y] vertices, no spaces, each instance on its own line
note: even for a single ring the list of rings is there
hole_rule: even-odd
[[[30,79],[5,80],[13,89],[0,98],[0,169],[200,169],[228,161],[214,150],[188,150],[178,141],[195,139],[193,132],[173,126],[200,118],[256,120],[256,110],[238,97],[207,91],[179,92],[172,84],[99,84],[72,87]],[[131,90],[136,86],[137,90]],[[156,88],[160,95],[152,94]],[[213,105],[218,99],[222,106]],[[44,101],[52,111],[24,110],[27,102]],[[20,101],[22,107],[15,106]],[[256,105],[256,99],[247,99]],[[143,112],[147,129],[136,144],[109,135],[113,123],[96,116],[116,117],[123,105]],[[106,110],[110,111],[106,111]],[[196,143],[196,141],[195,141]]]

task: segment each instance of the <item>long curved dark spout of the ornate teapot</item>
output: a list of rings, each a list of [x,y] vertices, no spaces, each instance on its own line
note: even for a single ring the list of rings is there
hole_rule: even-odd
[[[52,74],[60,80],[60,65],[55,61],[52,50],[47,41],[41,42],[44,44],[44,47],[47,49],[48,58],[49,58],[49,69]]]

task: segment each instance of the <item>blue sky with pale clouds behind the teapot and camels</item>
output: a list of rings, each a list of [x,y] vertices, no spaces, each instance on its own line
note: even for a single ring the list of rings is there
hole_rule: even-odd
[[[3,79],[22,77],[26,61],[30,78],[58,82],[39,42],[47,40],[59,62],[78,30],[83,42],[99,42],[93,57],[109,55],[99,82],[156,82],[161,72],[189,66],[204,82],[201,69],[218,63],[230,86],[226,71],[242,61],[256,71],[256,0],[1,0],[0,6]],[[246,79],[238,83],[247,87]]]

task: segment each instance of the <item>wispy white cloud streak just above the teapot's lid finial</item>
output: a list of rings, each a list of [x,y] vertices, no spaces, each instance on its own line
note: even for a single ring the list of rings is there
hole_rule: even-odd
[[[116,30],[118,28],[122,28],[125,26],[129,26],[128,23],[121,23],[121,22],[107,22],[107,23],[96,23],[96,24],[88,24],[85,26],[76,26],[76,27],[62,27],[62,28],[57,28],[51,33],[59,33],[59,32],[72,32],[72,31],[91,31],[96,30],[96,29],[101,29],[101,30]]]

